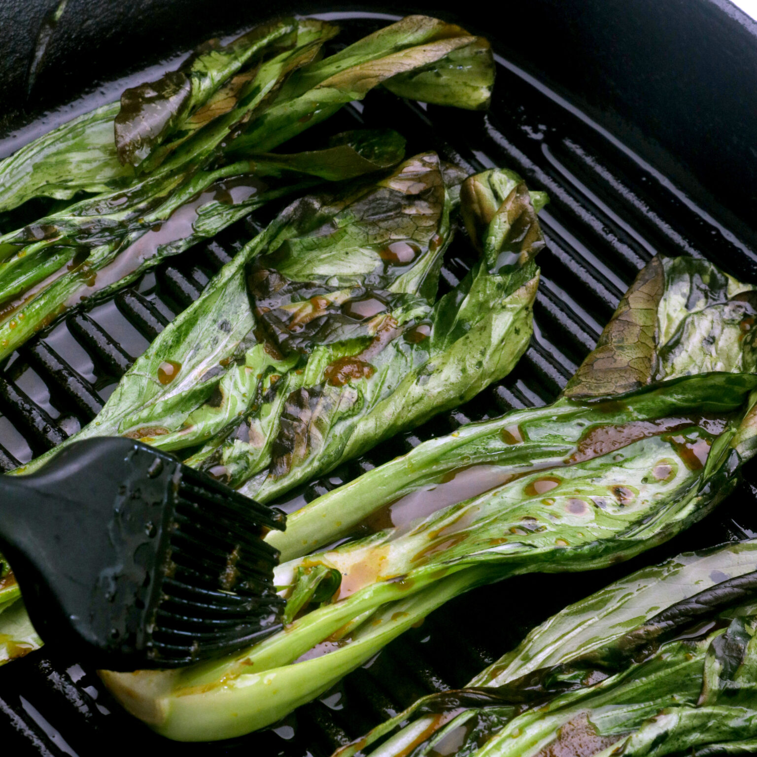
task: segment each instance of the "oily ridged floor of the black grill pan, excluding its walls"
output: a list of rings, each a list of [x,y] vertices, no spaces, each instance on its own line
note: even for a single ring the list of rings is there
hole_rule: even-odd
[[[351,19],[345,36],[362,35],[394,18],[357,11],[329,15]],[[507,48],[495,44],[495,50],[506,55]],[[593,347],[637,269],[656,252],[705,256],[729,273],[757,280],[757,252],[745,241],[509,58],[497,55],[497,84],[487,114],[371,95],[327,121],[324,133],[362,125],[399,129],[408,138],[408,154],[433,148],[470,170],[510,167],[532,189],[549,192],[550,205],[540,214],[547,249],[539,258],[534,337],[503,382],[310,482],[287,498],[285,508],[310,501],[459,425],[553,400]],[[48,450],[89,422],[135,357],[199,296],[210,277],[266,222],[266,213],[168,260],[132,288],[72,313],[0,366],[0,469]],[[442,288],[455,285],[471,263],[463,241],[453,245]],[[418,696],[465,684],[565,603],[678,550],[757,535],[752,515],[757,488],[749,478],[748,469],[746,483],[712,516],[664,547],[615,569],[523,576],[475,590],[433,613],[272,730],[175,748],[208,757],[248,754],[250,749],[261,757],[326,757]],[[459,618],[471,621],[463,627]],[[167,746],[121,712],[95,671],[67,650],[45,649],[0,668],[4,754],[86,757],[114,743],[148,754]]]

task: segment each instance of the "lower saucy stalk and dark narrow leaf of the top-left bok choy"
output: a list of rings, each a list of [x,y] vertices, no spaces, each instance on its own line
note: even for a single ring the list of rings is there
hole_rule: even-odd
[[[197,173],[144,217],[124,217],[123,211],[93,217],[92,203],[84,201],[45,219],[55,245],[33,242],[0,263],[0,358],[67,308],[123,287],[267,201],[320,179],[352,179],[390,167],[402,159],[403,145],[391,129],[350,132],[325,150],[266,154]],[[92,223],[102,231],[90,251]]]

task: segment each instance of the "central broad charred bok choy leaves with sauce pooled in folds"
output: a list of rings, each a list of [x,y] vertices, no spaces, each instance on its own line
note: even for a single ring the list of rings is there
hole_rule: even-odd
[[[376,182],[294,202],[74,438],[203,444],[189,465],[270,500],[472,397],[528,344],[544,244],[534,202],[546,198],[516,174],[473,176],[463,192],[495,174],[481,261],[437,302],[459,170],[426,153]]]

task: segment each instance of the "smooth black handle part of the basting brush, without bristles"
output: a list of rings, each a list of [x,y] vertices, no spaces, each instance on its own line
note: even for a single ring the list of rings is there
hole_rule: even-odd
[[[180,471],[139,442],[93,438],[0,477],[0,546],[43,640],[83,640],[126,665],[144,648]]]

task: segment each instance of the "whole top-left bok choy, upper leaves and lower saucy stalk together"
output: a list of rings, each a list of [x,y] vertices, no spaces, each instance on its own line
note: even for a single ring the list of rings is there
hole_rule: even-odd
[[[81,301],[266,201],[396,164],[403,141],[394,132],[343,140],[333,154],[269,153],[373,87],[456,107],[488,103],[491,50],[459,26],[408,17],[319,59],[336,33],[284,19],[223,47],[211,41],[179,70],[126,90],[120,107],[0,161],[0,210],[39,195],[75,200],[0,236],[0,359]]]

